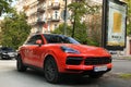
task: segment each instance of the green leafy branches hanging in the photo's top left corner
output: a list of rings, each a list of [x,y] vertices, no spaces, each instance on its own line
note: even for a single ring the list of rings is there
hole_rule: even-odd
[[[0,16],[2,13],[11,12],[12,8],[10,3],[12,0],[0,0]]]

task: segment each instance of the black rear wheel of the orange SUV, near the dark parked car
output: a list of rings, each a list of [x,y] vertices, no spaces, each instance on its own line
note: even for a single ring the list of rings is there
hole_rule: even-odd
[[[25,72],[27,67],[23,64],[21,55],[16,59],[16,69],[19,72]]]

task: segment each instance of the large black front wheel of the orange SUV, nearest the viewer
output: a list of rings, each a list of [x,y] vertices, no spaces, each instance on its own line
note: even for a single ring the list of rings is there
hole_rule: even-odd
[[[52,84],[59,83],[60,73],[58,72],[58,66],[53,58],[49,57],[45,61],[44,73],[47,82]]]

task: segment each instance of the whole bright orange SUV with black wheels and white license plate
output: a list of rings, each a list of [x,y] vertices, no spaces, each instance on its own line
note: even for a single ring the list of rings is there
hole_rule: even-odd
[[[112,67],[111,55],[99,47],[81,45],[63,35],[36,34],[19,48],[16,67],[44,71],[49,83],[58,83],[63,74],[81,74],[98,78]]]

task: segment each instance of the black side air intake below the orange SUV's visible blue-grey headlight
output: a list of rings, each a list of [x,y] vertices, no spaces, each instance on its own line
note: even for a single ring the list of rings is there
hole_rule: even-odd
[[[79,57],[68,57],[67,61],[66,61],[66,64],[69,64],[69,65],[79,65],[79,64],[81,64],[82,60],[83,59],[79,58]]]

